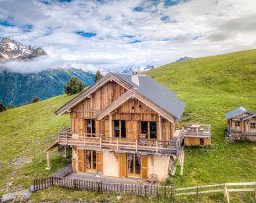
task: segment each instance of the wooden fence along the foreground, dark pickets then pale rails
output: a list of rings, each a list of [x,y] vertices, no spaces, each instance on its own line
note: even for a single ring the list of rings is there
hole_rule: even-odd
[[[154,197],[158,196],[171,199],[183,195],[196,195],[197,198],[199,198],[199,195],[201,194],[224,193],[224,197],[227,199],[227,202],[229,202],[229,193],[231,192],[255,192],[256,198],[256,182],[224,183],[186,188],[175,188],[174,186],[106,183],[99,181],[85,181],[73,178],[49,177],[35,179],[33,189],[34,191],[38,191],[50,186],[59,186],[63,188],[78,190],[89,190],[99,193],[132,194],[138,196]]]

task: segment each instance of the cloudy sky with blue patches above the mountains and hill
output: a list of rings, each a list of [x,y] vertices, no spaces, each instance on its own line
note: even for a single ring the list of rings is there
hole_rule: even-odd
[[[37,71],[120,70],[252,49],[255,19],[255,0],[0,0],[0,37],[49,54],[32,63]]]

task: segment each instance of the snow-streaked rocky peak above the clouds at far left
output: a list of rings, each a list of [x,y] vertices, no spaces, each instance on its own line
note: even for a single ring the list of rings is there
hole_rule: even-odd
[[[2,38],[0,41],[0,62],[7,62],[11,60],[32,60],[36,57],[47,55],[42,48],[32,48],[25,46],[8,37]]]

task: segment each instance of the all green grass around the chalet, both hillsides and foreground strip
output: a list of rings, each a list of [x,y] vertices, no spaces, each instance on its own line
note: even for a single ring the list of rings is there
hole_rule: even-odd
[[[183,121],[198,121],[212,125],[212,146],[185,150],[184,175],[167,181],[176,187],[224,182],[256,181],[256,144],[228,142],[224,130],[224,114],[239,106],[256,110],[256,50],[227,55],[192,59],[172,63],[146,72],[175,91],[186,103]],[[45,170],[43,150],[56,139],[56,132],[69,125],[68,116],[55,116],[53,111],[72,97],[59,96],[46,101],[0,113],[0,189],[7,183],[13,189],[27,187],[33,178],[45,177],[67,163],[57,154],[52,158],[52,169]],[[31,162],[14,165],[15,158],[26,157]],[[119,201],[112,195],[98,195],[59,188],[32,195],[39,199],[94,199]],[[123,197],[121,201],[166,201]],[[192,198],[192,199],[191,199]],[[253,202],[253,194],[231,194],[232,202]],[[200,202],[223,202],[223,194],[203,196]],[[181,202],[196,202],[186,197]]]

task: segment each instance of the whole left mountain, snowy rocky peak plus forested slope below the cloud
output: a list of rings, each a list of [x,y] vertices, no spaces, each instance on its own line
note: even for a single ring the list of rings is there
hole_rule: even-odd
[[[20,106],[31,102],[33,97],[40,100],[63,94],[63,88],[72,76],[85,83],[93,84],[94,74],[81,69],[48,69],[38,73],[15,73],[5,67],[5,63],[22,60],[30,62],[38,57],[46,56],[41,48],[25,46],[10,38],[0,41],[0,101],[4,105]]]

